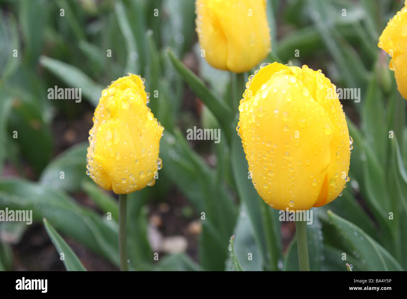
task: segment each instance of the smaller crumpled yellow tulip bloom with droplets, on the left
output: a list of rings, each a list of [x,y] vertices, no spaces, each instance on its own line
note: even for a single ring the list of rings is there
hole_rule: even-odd
[[[129,74],[103,89],[89,131],[87,174],[98,186],[127,194],[152,186],[164,127],[147,107],[144,79]]]

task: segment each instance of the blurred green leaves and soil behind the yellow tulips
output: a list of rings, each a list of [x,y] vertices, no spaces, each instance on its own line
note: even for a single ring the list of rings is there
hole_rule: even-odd
[[[0,0],[0,6],[0,209],[33,210],[35,221],[0,223],[0,270],[117,269],[116,195],[86,176],[85,156],[101,91],[127,72],[144,77],[152,95],[158,91],[149,107],[165,127],[159,179],[129,195],[130,268],[298,270],[294,223],[280,222],[247,179],[235,132],[236,89],[245,87],[199,55],[194,1]],[[341,198],[313,209],[311,270],[346,271],[346,262],[354,271],[407,269],[406,101],[377,47],[402,6],[267,1],[272,53],[263,62],[307,64],[337,87],[361,90],[359,103],[341,101],[354,142],[351,181]],[[55,85],[81,88],[81,103],[49,100]],[[221,128],[221,142],[187,141],[193,126]],[[57,252],[65,253],[63,264]]]

